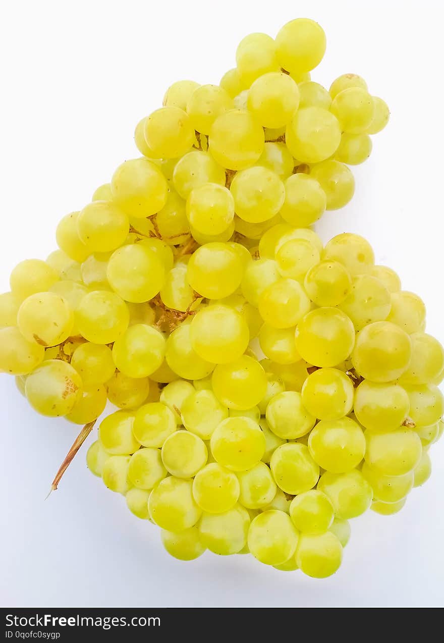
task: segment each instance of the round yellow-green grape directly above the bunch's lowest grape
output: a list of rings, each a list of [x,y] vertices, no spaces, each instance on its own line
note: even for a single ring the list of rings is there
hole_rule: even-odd
[[[330,528],[334,517],[333,505],[322,491],[305,491],[290,504],[292,523],[304,534],[322,534]]]

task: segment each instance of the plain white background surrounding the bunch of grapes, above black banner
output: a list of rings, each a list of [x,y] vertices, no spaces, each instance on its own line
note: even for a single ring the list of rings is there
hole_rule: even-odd
[[[310,3],[327,35],[312,78],[349,71],[384,97],[391,122],[355,168],[356,194],[318,226],[365,235],[377,262],[443,329],[442,12],[438,0]],[[307,3],[288,0],[15,0],[0,19],[1,289],[24,258],[55,249],[58,219],[137,156],[139,118],[175,80],[217,83],[249,32],[276,35]],[[1,290],[0,290],[1,291]],[[181,563],[85,466],[85,449],[44,502],[76,428],[26,406],[0,376],[0,604],[4,606],[441,606],[444,444],[396,516],[352,521],[339,572],[315,581],[251,556]],[[443,440],[444,442],[444,440]]]

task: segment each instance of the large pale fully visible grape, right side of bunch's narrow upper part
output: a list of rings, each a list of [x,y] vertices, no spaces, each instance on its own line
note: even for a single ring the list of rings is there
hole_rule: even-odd
[[[319,163],[332,156],[341,143],[341,126],[322,107],[304,107],[294,113],[285,130],[285,143],[301,163]]]

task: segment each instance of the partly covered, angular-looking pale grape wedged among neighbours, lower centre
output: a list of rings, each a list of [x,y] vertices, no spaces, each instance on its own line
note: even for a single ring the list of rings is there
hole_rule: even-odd
[[[184,427],[202,440],[209,440],[220,422],[227,417],[228,409],[220,404],[212,390],[195,391],[182,405]]]

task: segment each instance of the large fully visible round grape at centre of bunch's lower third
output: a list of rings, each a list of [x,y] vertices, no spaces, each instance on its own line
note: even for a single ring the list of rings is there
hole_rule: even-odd
[[[265,453],[265,437],[257,422],[248,417],[229,417],[211,433],[211,453],[227,469],[246,471]]]

